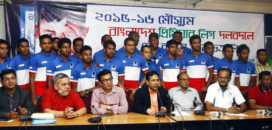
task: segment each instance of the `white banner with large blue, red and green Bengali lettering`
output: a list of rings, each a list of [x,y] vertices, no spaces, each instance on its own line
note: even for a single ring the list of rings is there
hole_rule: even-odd
[[[223,57],[222,47],[226,43],[233,44],[235,50],[240,44],[247,44],[250,47],[249,59],[254,62],[257,49],[264,48],[263,16],[254,13],[87,5],[85,26],[89,27],[89,31],[84,43],[96,52],[103,48],[101,37],[110,34],[119,49],[128,33],[137,31],[140,49],[148,43],[149,34],[156,32],[160,37],[159,46],[165,48],[173,32],[180,31],[184,38],[182,43],[189,48],[189,38],[194,34],[200,35],[202,47],[206,41],[213,42],[214,56],[218,58]],[[234,59],[237,59],[236,52]]]

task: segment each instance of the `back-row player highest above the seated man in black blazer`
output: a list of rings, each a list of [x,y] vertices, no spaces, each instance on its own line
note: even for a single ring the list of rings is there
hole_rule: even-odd
[[[150,33],[148,38],[148,42],[150,43],[150,47],[152,49],[151,60],[158,63],[163,56],[167,55],[167,50],[159,47],[158,33]]]

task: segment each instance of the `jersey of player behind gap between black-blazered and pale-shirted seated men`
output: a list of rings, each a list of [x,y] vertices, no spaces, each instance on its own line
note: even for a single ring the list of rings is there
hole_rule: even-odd
[[[186,69],[184,59],[174,58],[171,60],[168,56],[164,56],[159,60],[158,66],[163,72],[162,80],[165,87],[170,90],[171,88],[178,86],[176,77],[180,71],[185,72]]]

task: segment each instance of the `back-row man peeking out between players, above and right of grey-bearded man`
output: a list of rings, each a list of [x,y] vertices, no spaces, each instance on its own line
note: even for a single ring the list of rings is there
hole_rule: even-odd
[[[83,45],[84,45],[84,41],[81,37],[75,38],[73,40],[73,50],[75,53],[71,55],[70,57],[76,60],[78,63],[81,62],[81,59],[82,59],[80,54],[80,49]]]

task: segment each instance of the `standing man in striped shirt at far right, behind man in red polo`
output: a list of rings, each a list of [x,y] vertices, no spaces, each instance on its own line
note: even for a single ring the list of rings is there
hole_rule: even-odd
[[[259,74],[263,71],[268,71],[272,73],[272,67],[267,63],[267,51],[266,49],[257,50],[258,61],[254,64],[256,70],[256,86],[259,85]]]

